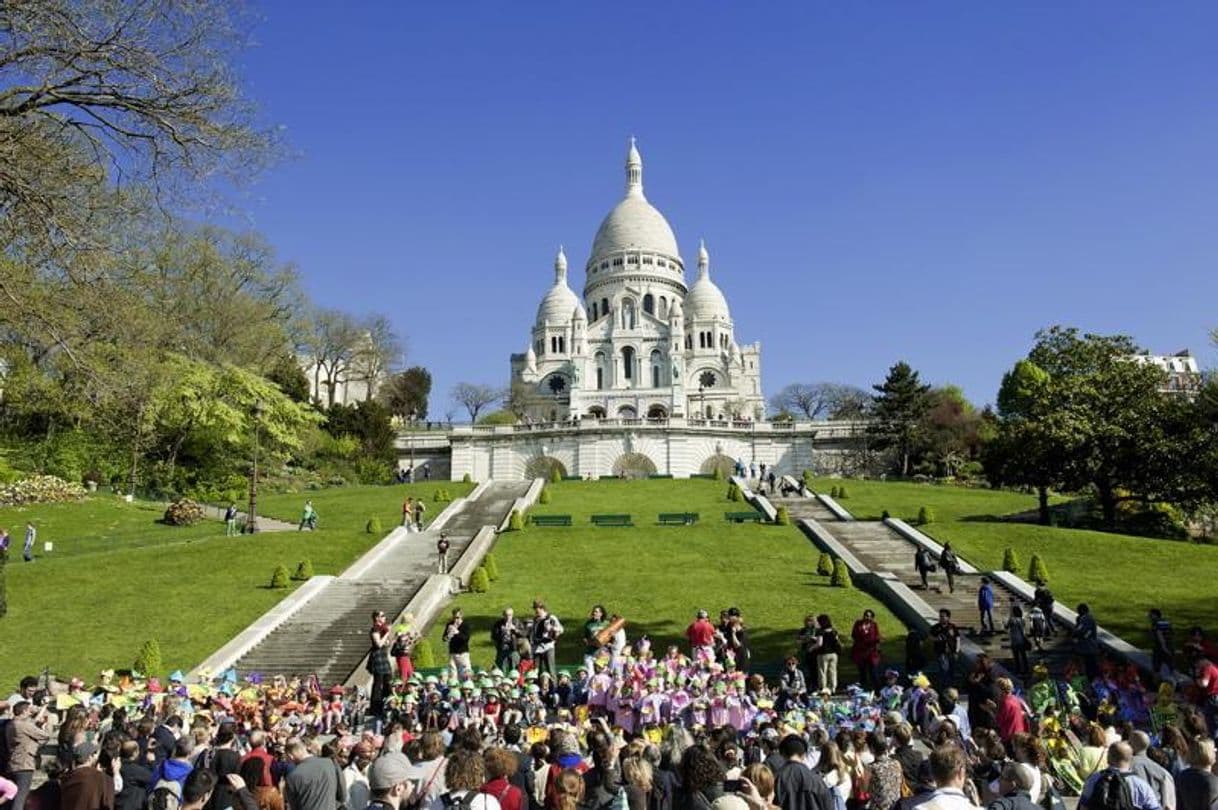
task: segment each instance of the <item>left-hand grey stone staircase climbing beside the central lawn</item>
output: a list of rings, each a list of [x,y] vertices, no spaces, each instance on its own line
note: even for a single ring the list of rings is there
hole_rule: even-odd
[[[447,521],[456,564],[474,535],[498,525],[529,481],[491,484],[479,498],[462,504]],[[273,630],[236,664],[239,672],[317,674],[322,683],[343,682],[368,652],[369,616],[384,610],[398,615],[436,571],[438,532],[403,534],[370,568],[356,565],[330,582],[287,621]]]

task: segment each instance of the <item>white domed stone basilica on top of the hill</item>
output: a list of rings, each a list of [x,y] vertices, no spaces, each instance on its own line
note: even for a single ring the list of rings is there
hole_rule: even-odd
[[[761,346],[736,341],[704,245],[698,278],[686,286],[672,228],[643,196],[633,139],[626,196],[592,241],[583,301],[568,285],[559,248],[529,350],[512,356],[512,385],[533,423],[764,417]]]

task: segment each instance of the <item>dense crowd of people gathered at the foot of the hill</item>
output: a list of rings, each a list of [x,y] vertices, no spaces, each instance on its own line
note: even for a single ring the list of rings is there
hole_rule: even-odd
[[[984,655],[935,682],[879,670],[873,615],[849,636],[808,616],[770,680],[733,608],[697,611],[686,644],[653,650],[596,605],[572,669],[557,666],[565,629],[543,603],[527,620],[504,611],[488,669],[457,610],[448,666],[428,675],[409,622],[373,619],[367,694],[231,670],[60,691],[24,678],[0,703],[0,808],[1062,810],[1079,795],[1083,810],[1218,809],[1218,650],[1199,632],[1179,650],[1191,678],[1150,688],[1100,659],[1090,677],[1080,660],[1057,676],[1038,664],[1018,688]]]

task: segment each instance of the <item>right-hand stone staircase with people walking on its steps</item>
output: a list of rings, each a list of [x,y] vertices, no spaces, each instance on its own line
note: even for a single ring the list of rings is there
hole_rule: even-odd
[[[977,609],[977,588],[980,586],[980,574],[957,574],[955,577],[955,593],[948,591],[948,581],[943,571],[929,575],[929,590],[922,590],[922,581],[914,570],[914,554],[917,547],[884,523],[878,520],[836,520],[828,509],[825,509],[815,498],[789,497],[775,498],[775,505],[782,503],[787,505],[792,519],[812,518],[821,526],[833,535],[845,546],[859,562],[876,574],[894,574],[904,585],[914,590],[922,599],[939,610],[948,608],[951,610],[951,620],[960,627],[960,631],[968,636],[978,647],[985,650],[990,658],[1000,661],[1013,672],[1015,661],[1011,657],[1010,639],[1002,631],[988,635],[980,632],[980,611]],[[815,504],[815,505],[811,505]],[[817,510],[822,510],[828,516],[817,516]],[[1000,624],[1006,620],[1012,600],[1018,600],[1024,609],[1024,620],[1029,605],[1019,599],[1013,592],[1007,591],[998,582],[993,583],[996,597],[994,608],[994,621]],[[1030,624],[1028,624],[1030,627]],[[1058,674],[1069,660],[1069,642],[1065,633],[1058,633],[1055,638],[1046,639],[1045,650],[1028,653],[1029,663],[1044,661],[1051,672]]]

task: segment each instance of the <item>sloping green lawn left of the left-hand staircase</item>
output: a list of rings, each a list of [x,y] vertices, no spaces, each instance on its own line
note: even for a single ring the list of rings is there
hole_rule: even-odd
[[[407,492],[431,502],[441,486],[353,486],[306,495],[268,496],[266,514],[296,520],[306,497],[322,516],[317,532],[224,537],[219,521],[191,527],[158,523],[163,508],[96,496],[78,504],[0,509],[13,534],[7,566],[9,615],[0,619],[0,687],[45,666],[89,680],[105,667],[130,666],[147,638],[161,643],[166,671],[189,669],[211,654],[287,591],[267,587],[275,565],[295,570],[311,559],[315,574],[339,574],[379,536],[369,516],[395,526]],[[468,485],[447,484],[453,497]],[[21,562],[27,519],[39,527],[38,559]],[[55,548],[41,552],[43,541]],[[296,587],[296,583],[292,583]]]

